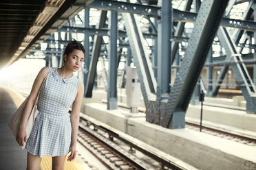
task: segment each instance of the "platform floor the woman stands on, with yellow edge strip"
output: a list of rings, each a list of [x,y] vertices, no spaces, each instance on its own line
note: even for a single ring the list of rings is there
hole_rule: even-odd
[[[12,117],[12,114],[17,110],[25,98],[19,93],[15,93],[9,88],[0,88],[0,169],[26,169],[27,151],[21,149],[18,143],[15,141],[14,136],[8,122]],[[78,144],[77,149],[81,146]],[[65,161],[65,169],[78,169],[78,170],[89,170],[91,169],[83,161],[83,153],[77,152],[76,159],[72,162]],[[67,155],[68,156],[68,155]],[[41,160],[41,170],[52,169],[52,158],[50,156],[43,156]]]

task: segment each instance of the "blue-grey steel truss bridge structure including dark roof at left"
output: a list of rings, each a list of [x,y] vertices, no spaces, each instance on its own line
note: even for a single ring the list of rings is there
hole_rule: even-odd
[[[237,10],[244,3],[248,4],[246,8]],[[246,112],[255,114],[255,3],[1,1],[0,64],[3,68],[19,58],[36,58],[36,52],[41,51],[47,65],[61,66],[63,48],[75,38],[83,42],[87,51],[79,73],[85,84],[85,97],[92,97],[98,61],[103,65],[107,61],[109,69],[103,69],[101,76],[107,90],[107,108],[116,109],[118,65],[133,63],[147,108],[147,121],[172,129],[184,128],[186,110],[200,89],[208,96],[217,95],[231,68],[246,99]],[[47,47],[43,48],[43,44]],[[251,74],[248,65],[252,65]],[[213,82],[215,67],[220,71]],[[202,81],[203,69],[206,86]],[[121,72],[124,77],[125,71]]]

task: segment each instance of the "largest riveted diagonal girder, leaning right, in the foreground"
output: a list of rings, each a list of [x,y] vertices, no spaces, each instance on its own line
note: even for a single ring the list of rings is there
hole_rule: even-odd
[[[206,56],[217,32],[228,1],[203,1],[195,20],[189,45],[186,49],[180,69],[175,76],[173,87],[167,101],[161,124],[164,127],[179,128],[172,121],[173,117],[186,112],[204,66]],[[184,119],[182,115],[181,119]],[[184,121],[184,120],[183,120]],[[184,126],[184,125],[183,125]]]

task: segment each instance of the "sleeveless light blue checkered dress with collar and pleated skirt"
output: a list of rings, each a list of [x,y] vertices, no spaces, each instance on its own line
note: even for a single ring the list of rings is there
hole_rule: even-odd
[[[76,98],[79,80],[74,74],[62,79],[57,69],[52,68],[52,73],[42,84],[37,103],[39,114],[25,145],[30,154],[40,158],[65,156],[70,152],[72,142],[68,110]]]

